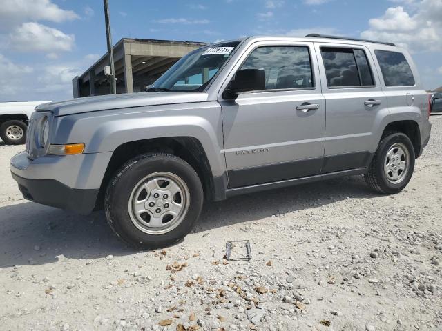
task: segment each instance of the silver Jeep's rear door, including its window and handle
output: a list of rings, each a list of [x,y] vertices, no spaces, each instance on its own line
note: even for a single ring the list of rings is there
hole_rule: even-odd
[[[323,173],[365,168],[388,114],[372,55],[361,45],[315,43],[327,107]]]

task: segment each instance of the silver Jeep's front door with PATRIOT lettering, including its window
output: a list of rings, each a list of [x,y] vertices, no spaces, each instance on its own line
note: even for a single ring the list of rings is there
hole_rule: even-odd
[[[265,90],[220,99],[229,188],[320,174],[325,101],[313,43],[258,42],[234,72],[265,70]]]

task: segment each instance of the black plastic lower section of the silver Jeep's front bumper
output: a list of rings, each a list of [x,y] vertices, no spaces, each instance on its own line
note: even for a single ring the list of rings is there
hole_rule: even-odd
[[[79,214],[90,214],[95,208],[99,189],[75,189],[54,179],[28,179],[12,172],[23,198]]]

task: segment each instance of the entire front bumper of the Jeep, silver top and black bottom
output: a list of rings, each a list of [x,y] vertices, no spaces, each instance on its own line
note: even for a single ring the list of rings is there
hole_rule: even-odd
[[[21,152],[12,157],[10,170],[25,199],[89,214],[111,155],[105,152],[30,160]]]

